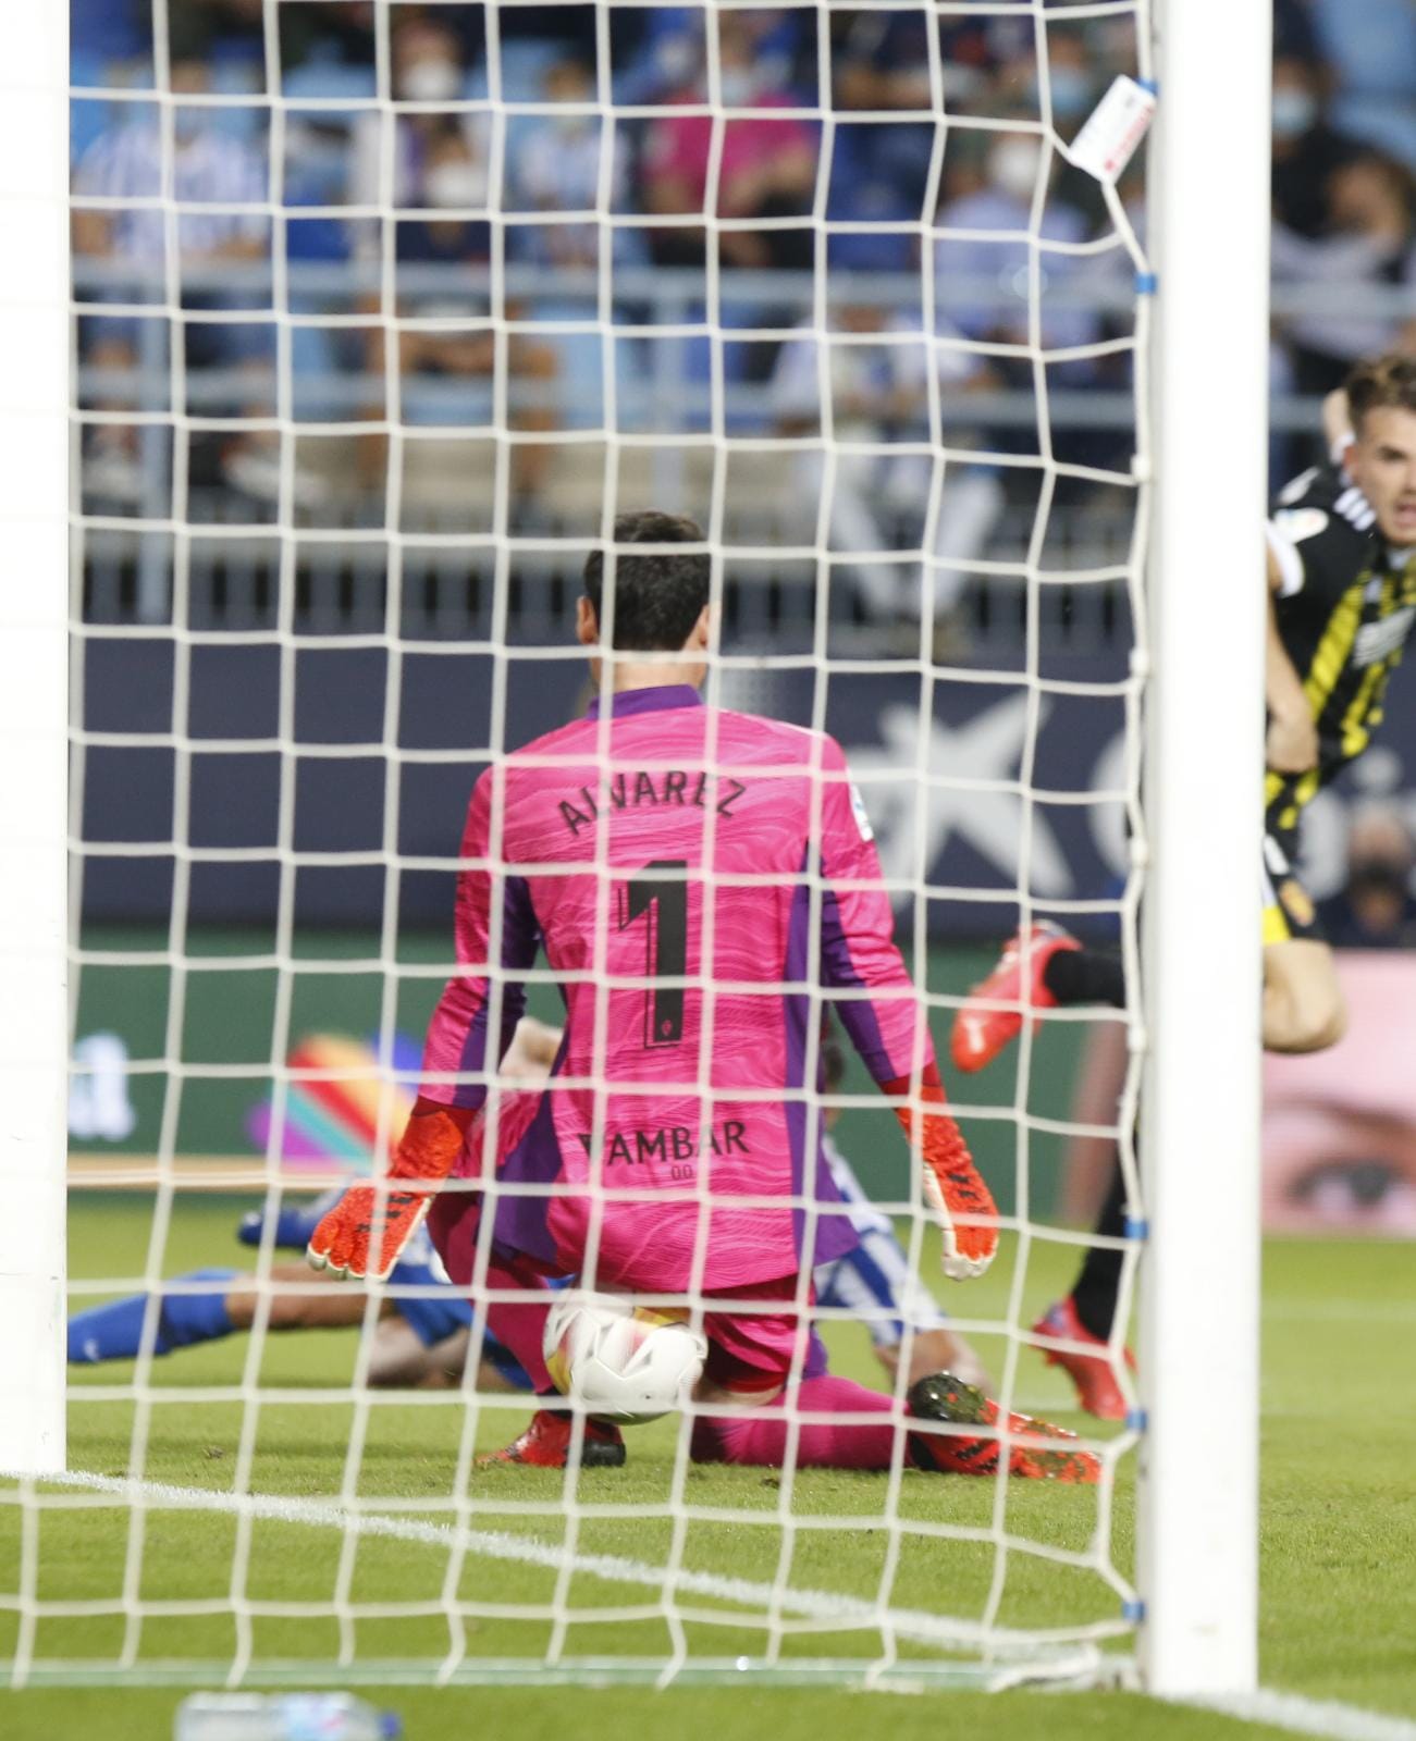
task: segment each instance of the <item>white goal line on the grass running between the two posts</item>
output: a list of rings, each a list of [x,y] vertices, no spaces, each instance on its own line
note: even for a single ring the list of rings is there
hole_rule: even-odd
[[[566,1565],[589,1577],[603,1577],[617,1584],[643,1584],[662,1591],[665,1570],[643,1560],[625,1560],[610,1553],[571,1553],[533,1536],[509,1536],[503,1530],[460,1529],[451,1523],[425,1523],[418,1518],[388,1516],[378,1511],[350,1511],[338,1501],[282,1499],[275,1494],[218,1494],[206,1487],[172,1487],[167,1482],[136,1482],[127,1476],[96,1475],[73,1469],[68,1475],[45,1475],[42,1485],[75,1487],[85,1492],[113,1494],[129,1504],[167,1506],[183,1511],[219,1511],[228,1516],[249,1516],[268,1523],[296,1523],[315,1529],[338,1529],[352,1536],[385,1536],[394,1541],[416,1541],[430,1548],[462,1548],[491,1560],[517,1560],[523,1565],[542,1565],[559,1572]],[[916,1644],[941,1649],[1028,1652],[1036,1657],[1038,1640],[1024,1631],[981,1626],[977,1621],[947,1619],[921,1609],[878,1609],[859,1596],[843,1596],[827,1590],[779,1590],[745,1577],[725,1577],[719,1572],[678,1570],[674,1590],[695,1596],[714,1596],[737,1602],[742,1607],[768,1609],[773,1602],[806,1619],[841,1621],[843,1626],[871,1626],[897,1633]],[[1096,1645],[1066,1642],[1055,1661],[1047,1657],[1049,1673],[1082,1675],[1101,1663]]]

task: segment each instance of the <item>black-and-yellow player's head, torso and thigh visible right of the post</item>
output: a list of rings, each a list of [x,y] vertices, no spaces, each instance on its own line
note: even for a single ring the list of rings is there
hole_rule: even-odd
[[[1416,623],[1416,359],[1360,364],[1350,440],[1268,522],[1264,1045],[1317,1052],[1345,1010],[1292,862],[1303,806],[1371,742]]]

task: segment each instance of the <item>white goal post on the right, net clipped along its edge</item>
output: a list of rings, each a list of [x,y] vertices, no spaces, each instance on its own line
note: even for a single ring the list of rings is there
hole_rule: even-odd
[[[1137,1548],[1162,1694],[1258,1684],[1271,26],[1268,5],[1156,9]]]

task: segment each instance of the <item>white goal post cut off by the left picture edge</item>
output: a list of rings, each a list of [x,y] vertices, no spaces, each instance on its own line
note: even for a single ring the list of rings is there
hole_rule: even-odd
[[[68,5],[0,77],[0,1468],[64,1468]]]

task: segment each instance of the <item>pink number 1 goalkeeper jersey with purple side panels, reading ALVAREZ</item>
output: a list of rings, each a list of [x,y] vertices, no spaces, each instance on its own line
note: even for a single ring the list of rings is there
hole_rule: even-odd
[[[608,761],[601,735],[592,709],[477,782],[463,971],[423,1055],[463,1079],[423,1093],[482,1106],[524,1005],[517,971],[543,947],[566,1032],[540,1100],[502,1097],[496,1172],[523,1189],[496,1194],[496,1241],[636,1292],[794,1274],[855,1243],[808,1112],[808,987],[846,994],[834,1008],[876,1081],[934,1057],[864,808],[833,738],[690,688],[615,696]],[[472,1151],[465,1165],[481,1172]]]

